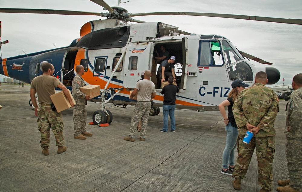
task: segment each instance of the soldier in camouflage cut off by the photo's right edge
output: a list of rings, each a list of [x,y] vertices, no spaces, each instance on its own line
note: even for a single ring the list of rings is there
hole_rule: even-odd
[[[293,89],[288,101],[286,114],[286,146],[288,180],[278,181],[284,187],[277,187],[279,192],[301,191],[302,187],[302,73],[293,78]]]

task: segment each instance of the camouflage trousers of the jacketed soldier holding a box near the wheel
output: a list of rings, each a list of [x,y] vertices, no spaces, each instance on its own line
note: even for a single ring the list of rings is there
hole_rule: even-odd
[[[85,105],[73,106],[73,136],[86,132],[87,111]]]

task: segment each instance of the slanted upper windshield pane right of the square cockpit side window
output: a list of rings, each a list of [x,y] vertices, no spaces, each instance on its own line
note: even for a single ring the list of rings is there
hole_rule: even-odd
[[[231,42],[222,40],[222,47],[227,65],[243,59],[242,55],[238,52],[238,50]]]

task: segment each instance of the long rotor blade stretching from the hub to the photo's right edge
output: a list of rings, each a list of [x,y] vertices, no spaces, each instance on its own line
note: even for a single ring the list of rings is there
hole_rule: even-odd
[[[153,12],[153,13],[129,13],[129,15],[131,15],[131,17],[147,16],[147,15],[189,15],[189,16],[220,17],[220,18],[245,19],[245,20],[254,20],[254,21],[266,21],[266,22],[274,22],[274,23],[302,25],[302,19],[256,17],[256,16],[248,16],[248,15],[233,15],[233,14],[219,14],[219,13]]]

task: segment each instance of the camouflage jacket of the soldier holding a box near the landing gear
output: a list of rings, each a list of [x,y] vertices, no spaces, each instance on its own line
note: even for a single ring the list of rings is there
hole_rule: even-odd
[[[76,105],[86,105],[87,100],[85,99],[86,94],[80,91],[80,87],[85,86],[84,79],[76,74],[72,80],[72,96]]]

